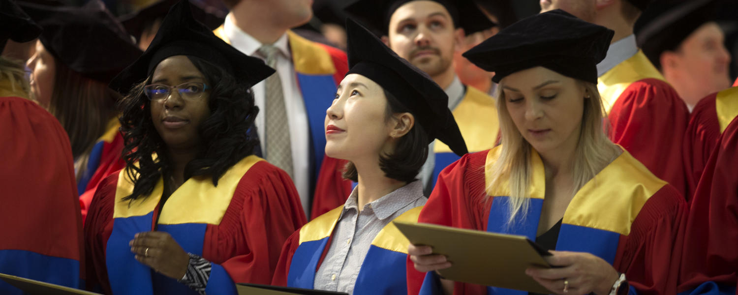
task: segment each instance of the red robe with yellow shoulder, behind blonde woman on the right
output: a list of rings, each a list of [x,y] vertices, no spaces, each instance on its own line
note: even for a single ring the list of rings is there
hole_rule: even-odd
[[[677,91],[640,50],[599,77],[597,88],[610,140],[686,195],[682,145],[689,109]]]

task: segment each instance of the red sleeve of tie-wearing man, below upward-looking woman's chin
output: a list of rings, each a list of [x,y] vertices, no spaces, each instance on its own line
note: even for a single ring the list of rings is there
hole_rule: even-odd
[[[346,163],[345,160],[329,156],[323,158],[310,210],[311,220],[341,206],[348,199],[348,195],[351,195],[351,181],[342,176]]]

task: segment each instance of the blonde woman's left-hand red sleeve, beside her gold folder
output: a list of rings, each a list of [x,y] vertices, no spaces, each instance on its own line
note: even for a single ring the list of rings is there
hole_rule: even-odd
[[[486,230],[492,200],[486,201],[484,163],[487,153],[469,153],[438,175],[435,188],[420,212],[418,222]],[[418,294],[425,273],[415,271],[408,257],[407,294]],[[486,294],[486,287],[456,282],[454,294]]]

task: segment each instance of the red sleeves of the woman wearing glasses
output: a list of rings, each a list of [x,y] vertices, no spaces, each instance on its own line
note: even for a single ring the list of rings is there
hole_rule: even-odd
[[[110,291],[105,249],[112,231],[117,174],[108,176],[94,195],[86,220],[88,287]],[[208,224],[203,255],[218,263],[234,282],[269,284],[280,246],[306,223],[289,176],[266,161],[254,164],[239,181],[221,223]]]

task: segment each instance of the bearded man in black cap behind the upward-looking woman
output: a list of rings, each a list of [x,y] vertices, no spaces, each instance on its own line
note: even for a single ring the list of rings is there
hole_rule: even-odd
[[[446,91],[469,152],[494,147],[499,130],[494,100],[483,91],[463,85],[453,63],[455,52],[463,49],[465,35],[495,26],[474,1],[360,0],[346,10],[381,32],[384,44],[429,74]],[[432,145],[418,176],[427,192],[435,185],[438,173],[459,159],[446,145]]]

